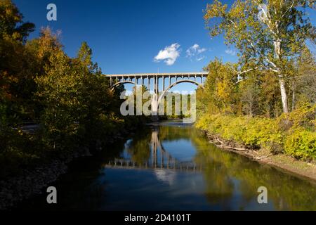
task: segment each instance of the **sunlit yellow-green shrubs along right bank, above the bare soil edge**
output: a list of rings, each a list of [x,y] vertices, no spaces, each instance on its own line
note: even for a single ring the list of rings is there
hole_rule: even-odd
[[[236,115],[203,115],[196,126],[235,147],[316,161],[316,105],[302,105],[275,119]]]

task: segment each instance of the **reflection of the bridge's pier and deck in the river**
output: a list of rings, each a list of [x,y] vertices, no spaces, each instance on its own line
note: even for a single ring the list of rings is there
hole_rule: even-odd
[[[193,161],[180,161],[162,146],[159,140],[159,131],[154,129],[151,136],[151,158],[145,162],[136,162],[129,158],[115,158],[108,162],[105,167],[126,169],[173,169],[181,172],[201,172],[202,164],[197,165]]]

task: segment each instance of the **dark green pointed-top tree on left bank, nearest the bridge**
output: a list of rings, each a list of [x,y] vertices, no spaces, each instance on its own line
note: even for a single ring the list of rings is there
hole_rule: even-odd
[[[79,83],[79,124],[84,137],[88,142],[103,139],[112,131],[107,126],[119,120],[114,103],[117,93],[110,89],[109,79],[102,75],[98,64],[92,62],[92,50],[86,42],[81,44],[73,62]]]

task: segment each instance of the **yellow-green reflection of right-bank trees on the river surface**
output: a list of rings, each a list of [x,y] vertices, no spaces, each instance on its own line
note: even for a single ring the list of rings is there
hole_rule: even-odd
[[[265,186],[268,188],[268,200],[276,210],[316,210],[316,188],[309,181],[220,150],[193,127],[166,125],[155,127],[152,132],[157,130],[162,146],[165,141],[191,141],[196,149],[192,162],[196,167],[203,168],[204,194],[209,203],[220,203],[229,209],[232,195],[239,193],[239,209],[243,210],[258,196],[258,187]],[[143,136],[133,139],[127,148],[131,159],[140,164],[149,161],[152,155],[151,143],[152,134],[145,132]],[[164,150],[168,152],[168,149]]]

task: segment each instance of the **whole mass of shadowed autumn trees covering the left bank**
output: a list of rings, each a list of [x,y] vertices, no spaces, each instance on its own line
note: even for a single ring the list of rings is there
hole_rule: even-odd
[[[84,42],[76,58],[62,49],[60,32],[42,28],[26,41],[32,23],[10,0],[0,0],[0,176],[96,148],[140,121],[119,113],[122,89],[110,89]],[[38,124],[25,134],[22,122]]]

